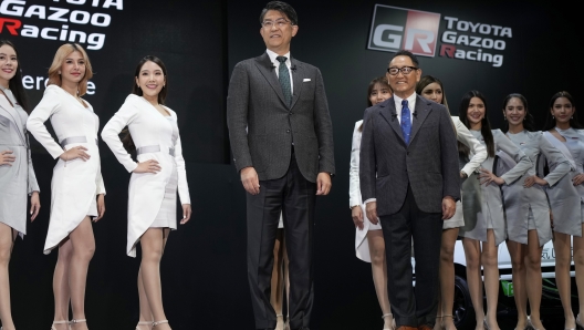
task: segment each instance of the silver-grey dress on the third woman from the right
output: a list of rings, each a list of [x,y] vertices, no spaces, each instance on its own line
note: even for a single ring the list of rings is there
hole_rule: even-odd
[[[480,131],[470,131],[472,135],[484,144]],[[511,156],[517,165],[501,175],[505,185],[510,185],[531,168],[531,161],[517,147],[511,140],[504,136],[501,130],[492,130],[494,149]],[[487,157],[481,164],[482,168],[493,171],[494,157]],[[505,219],[501,188],[496,183],[479,184],[479,173],[473,173],[462,183],[462,210],[465,226],[460,227],[460,236],[487,241],[487,229],[493,229],[494,244],[499,245],[507,238]]]

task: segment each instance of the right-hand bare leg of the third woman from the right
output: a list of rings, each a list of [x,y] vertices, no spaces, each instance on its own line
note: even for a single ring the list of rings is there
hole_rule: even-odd
[[[487,230],[487,243],[482,244],[482,269],[484,272],[484,292],[487,293],[487,324],[490,330],[498,330],[497,302],[499,300],[499,250],[494,245],[494,233]]]

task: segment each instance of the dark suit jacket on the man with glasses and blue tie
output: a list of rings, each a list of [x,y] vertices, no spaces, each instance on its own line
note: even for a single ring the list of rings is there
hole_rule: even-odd
[[[408,184],[418,207],[441,213],[442,198],[460,199],[457,137],[444,105],[416,96],[409,145],[394,97],[365,110],[361,141],[361,194],[377,199],[377,215],[399,212]]]

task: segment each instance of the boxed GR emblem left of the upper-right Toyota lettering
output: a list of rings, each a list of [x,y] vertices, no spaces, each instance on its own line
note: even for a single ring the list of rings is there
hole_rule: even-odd
[[[367,48],[434,58],[439,25],[439,13],[375,4]]]

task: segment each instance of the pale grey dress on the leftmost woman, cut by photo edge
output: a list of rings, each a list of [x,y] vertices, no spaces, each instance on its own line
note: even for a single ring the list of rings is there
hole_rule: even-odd
[[[25,128],[28,115],[10,90],[0,89],[14,105],[0,94],[0,152],[12,151],[15,157],[12,166],[0,165],[0,223],[24,235],[29,215],[27,195],[40,192]]]

